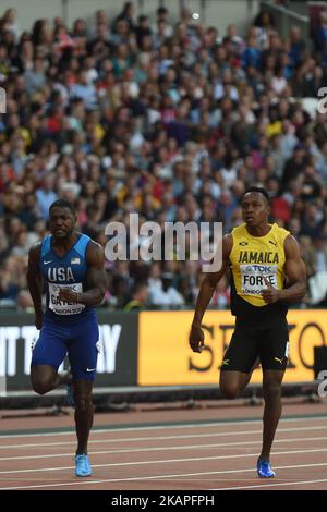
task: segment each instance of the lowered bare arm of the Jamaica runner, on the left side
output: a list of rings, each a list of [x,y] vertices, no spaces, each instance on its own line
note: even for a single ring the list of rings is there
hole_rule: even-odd
[[[204,344],[204,333],[201,329],[202,318],[210,302],[210,298],[216,290],[216,287],[229,266],[229,255],[233,246],[233,239],[231,234],[226,234],[222,239],[222,263],[218,272],[207,273],[204,278],[194,312],[194,318],[190,332],[189,342],[193,352],[201,352]]]

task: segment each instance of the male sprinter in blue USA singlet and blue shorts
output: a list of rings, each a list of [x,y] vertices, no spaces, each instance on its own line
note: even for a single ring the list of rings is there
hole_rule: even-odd
[[[92,388],[97,366],[98,324],[95,307],[106,288],[105,254],[100,245],[75,231],[76,215],[70,203],[58,199],[49,208],[51,234],[29,251],[27,282],[40,329],[33,350],[33,389],[45,394],[73,381],[77,449],[75,475],[89,476],[87,441],[93,425]],[[47,310],[43,314],[43,281]],[[69,354],[71,374],[58,367]]]

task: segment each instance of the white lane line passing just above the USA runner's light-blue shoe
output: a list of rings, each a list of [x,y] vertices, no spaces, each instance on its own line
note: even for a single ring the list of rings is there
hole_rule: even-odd
[[[324,437],[299,437],[290,439],[276,439],[274,443],[291,443],[300,441],[326,441],[327,436]],[[244,447],[252,444],[261,444],[261,440],[256,441],[238,441],[238,442],[218,442],[214,444],[180,444],[178,447],[146,447],[146,448],[126,448],[126,449],[117,449],[117,450],[101,450],[101,451],[90,451],[89,455],[107,455],[107,454],[119,454],[119,453],[142,453],[142,452],[157,452],[157,451],[170,451],[170,450],[202,450],[208,448],[232,448],[232,447]],[[72,453],[50,453],[46,455],[17,455],[17,456],[1,456],[0,461],[21,461],[21,460],[32,460],[32,459],[53,459],[53,458],[72,458]]]

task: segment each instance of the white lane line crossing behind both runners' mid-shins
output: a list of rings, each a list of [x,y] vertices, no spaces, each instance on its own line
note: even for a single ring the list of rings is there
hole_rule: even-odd
[[[226,427],[229,428],[231,425],[254,425],[257,423],[262,423],[263,418],[258,417],[257,419],[251,419],[250,422],[239,422],[238,419],[234,419],[232,422],[217,422],[217,423],[190,423],[190,424],[184,424],[184,425],[155,425],[155,426],[146,426],[146,427],[122,427],[122,428],[101,428],[101,429],[95,429],[92,431],[93,436],[96,434],[114,434],[114,432],[128,432],[128,431],[137,431],[137,430],[168,430],[168,429],[174,429],[174,428],[217,428],[217,427]],[[280,419],[279,423],[301,423],[301,422],[327,422],[327,416],[323,417],[299,417],[299,418],[283,418]],[[71,436],[74,434],[73,427],[72,431],[63,432],[63,431],[57,431],[57,432],[36,432],[36,434],[4,434],[3,436],[0,432],[0,441],[1,439],[8,439],[8,438],[26,438],[26,437],[49,437],[49,436]]]

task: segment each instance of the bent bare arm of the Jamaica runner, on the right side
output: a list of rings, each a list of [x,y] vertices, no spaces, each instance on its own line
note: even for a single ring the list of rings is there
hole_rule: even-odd
[[[276,301],[299,302],[305,295],[305,264],[301,258],[299,244],[292,235],[288,235],[286,237],[284,255],[284,270],[290,282],[290,287],[283,290],[276,290],[266,280],[267,290],[263,291],[263,297],[268,304]]]

